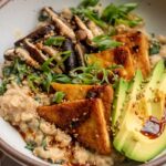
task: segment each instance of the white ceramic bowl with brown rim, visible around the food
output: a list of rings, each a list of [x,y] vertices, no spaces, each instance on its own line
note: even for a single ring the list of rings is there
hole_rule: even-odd
[[[104,4],[113,0],[103,0]],[[131,0],[122,0],[131,1]],[[135,1],[135,0],[134,0]],[[28,34],[37,24],[38,11],[44,6],[51,6],[56,11],[62,8],[74,7],[79,0],[0,0],[0,62],[3,61],[4,50],[12,48],[13,42]],[[137,0],[137,12],[145,19],[148,32],[166,34],[166,0]],[[25,143],[7,122],[0,118],[0,148],[25,165],[50,165],[24,148]],[[159,159],[160,165],[166,163],[166,156]]]

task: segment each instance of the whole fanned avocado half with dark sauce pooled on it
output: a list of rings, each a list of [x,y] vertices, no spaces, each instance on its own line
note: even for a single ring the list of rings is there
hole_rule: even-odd
[[[137,71],[129,86],[120,81],[115,95],[112,114],[114,147],[137,162],[154,158],[166,148],[164,61],[157,63],[148,80],[143,80],[142,72]]]

